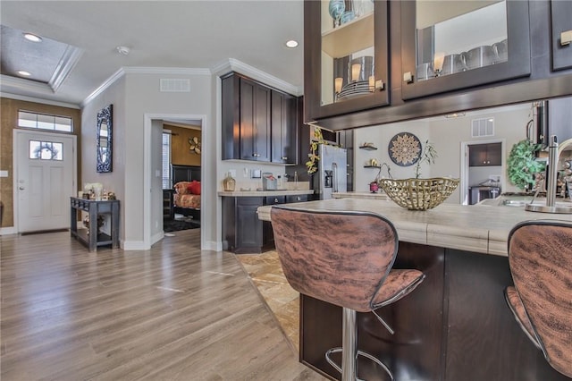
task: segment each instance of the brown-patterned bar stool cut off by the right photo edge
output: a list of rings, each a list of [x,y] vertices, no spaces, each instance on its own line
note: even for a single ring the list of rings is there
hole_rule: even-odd
[[[572,223],[526,221],[509,233],[505,299],[552,368],[572,377]]]

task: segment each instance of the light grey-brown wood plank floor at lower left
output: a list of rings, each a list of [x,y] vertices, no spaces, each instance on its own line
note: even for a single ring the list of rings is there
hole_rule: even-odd
[[[95,253],[70,233],[0,237],[2,381],[324,380],[199,236]]]

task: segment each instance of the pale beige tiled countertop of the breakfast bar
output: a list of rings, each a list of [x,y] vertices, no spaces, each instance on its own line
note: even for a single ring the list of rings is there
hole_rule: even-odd
[[[527,212],[524,207],[442,204],[426,211],[407,210],[391,200],[327,199],[288,204],[303,210],[357,210],[387,217],[400,241],[507,256],[512,227],[526,220],[572,221],[572,215]],[[272,206],[258,207],[258,218],[270,221]]]

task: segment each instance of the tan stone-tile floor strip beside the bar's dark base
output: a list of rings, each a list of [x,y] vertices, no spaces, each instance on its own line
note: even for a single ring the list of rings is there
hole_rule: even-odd
[[[299,351],[299,292],[286,281],[275,250],[236,256],[272,310],[290,343]]]

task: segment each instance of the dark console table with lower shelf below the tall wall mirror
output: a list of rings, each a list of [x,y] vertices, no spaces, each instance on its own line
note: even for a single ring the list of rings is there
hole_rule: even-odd
[[[119,248],[119,200],[101,200],[70,198],[71,236],[88,246],[89,251],[97,250],[97,246],[111,245]],[[89,229],[78,230],[78,210],[88,212]],[[97,215],[111,215],[111,236],[97,232]]]

